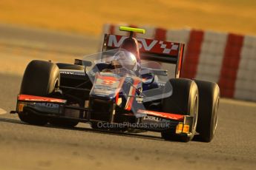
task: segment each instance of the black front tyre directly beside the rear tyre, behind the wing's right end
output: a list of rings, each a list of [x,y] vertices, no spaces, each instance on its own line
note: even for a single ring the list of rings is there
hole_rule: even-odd
[[[191,115],[194,117],[192,134],[189,136],[175,135],[175,132],[162,132],[165,140],[190,141],[196,132],[198,112],[198,89],[194,81],[185,78],[171,78],[169,82],[173,88],[172,95],[162,100],[163,112]],[[165,85],[166,86],[166,85]]]

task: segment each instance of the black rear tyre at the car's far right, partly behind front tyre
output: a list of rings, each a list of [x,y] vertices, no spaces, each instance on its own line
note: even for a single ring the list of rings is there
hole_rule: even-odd
[[[220,101],[220,88],[217,84],[209,81],[195,80],[200,95],[197,132],[199,135],[194,140],[210,142],[217,127],[218,107]]]

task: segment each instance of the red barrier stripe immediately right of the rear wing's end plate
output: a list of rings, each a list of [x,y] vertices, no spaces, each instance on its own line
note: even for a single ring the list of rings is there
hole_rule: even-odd
[[[203,43],[203,31],[191,30],[186,55],[183,61],[182,78],[195,78],[197,75],[197,66],[199,63],[201,45]]]

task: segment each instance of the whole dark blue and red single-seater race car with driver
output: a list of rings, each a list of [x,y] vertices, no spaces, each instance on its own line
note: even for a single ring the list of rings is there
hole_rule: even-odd
[[[160,132],[165,140],[210,142],[217,127],[220,89],[180,78],[185,44],[136,38],[145,30],[105,34],[102,52],[74,64],[31,61],[16,110],[25,123],[96,130]],[[170,78],[168,68],[175,67]]]

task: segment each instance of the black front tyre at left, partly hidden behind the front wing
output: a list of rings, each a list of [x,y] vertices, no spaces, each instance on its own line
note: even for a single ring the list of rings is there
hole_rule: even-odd
[[[45,97],[59,86],[60,75],[56,64],[47,61],[31,61],[24,72],[19,94]],[[19,118],[30,124],[45,125],[46,118],[30,112],[19,113]]]

